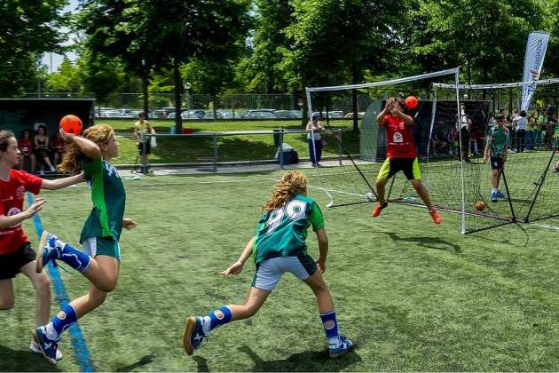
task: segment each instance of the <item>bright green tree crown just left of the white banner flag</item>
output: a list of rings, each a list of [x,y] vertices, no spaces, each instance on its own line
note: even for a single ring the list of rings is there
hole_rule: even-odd
[[[536,0],[421,0],[402,48],[412,47],[410,65],[423,71],[462,65],[472,83],[518,81],[526,39],[544,14]]]

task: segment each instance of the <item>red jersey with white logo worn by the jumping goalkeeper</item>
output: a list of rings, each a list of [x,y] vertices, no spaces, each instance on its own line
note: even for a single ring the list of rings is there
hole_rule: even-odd
[[[415,158],[413,126],[405,125],[398,116],[384,115],[380,127],[386,129],[387,158]]]

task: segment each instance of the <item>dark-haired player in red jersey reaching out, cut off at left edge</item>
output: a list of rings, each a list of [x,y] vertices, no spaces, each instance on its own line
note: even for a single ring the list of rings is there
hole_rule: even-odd
[[[38,194],[41,189],[59,189],[84,181],[83,174],[65,179],[46,180],[26,171],[12,170],[20,163],[18,141],[10,131],[0,131],[0,310],[13,307],[12,278],[22,273],[35,287],[36,325],[49,321],[51,313],[51,287],[49,277],[35,272],[35,251],[21,223],[43,208],[45,200],[37,198],[23,210],[25,192]],[[29,348],[39,353],[34,341]],[[57,359],[61,358],[59,353]]]

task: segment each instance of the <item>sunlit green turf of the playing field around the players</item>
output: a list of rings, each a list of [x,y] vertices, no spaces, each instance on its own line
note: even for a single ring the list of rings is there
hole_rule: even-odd
[[[443,224],[434,226],[425,210],[396,204],[372,219],[371,205],[327,209],[314,188],[330,242],[325,278],[355,353],[327,360],[311,290],[287,274],[255,317],[217,329],[209,345],[186,356],[186,317],[245,297],[255,270],[250,260],[239,276],[217,272],[254,234],[259,206],[279,176],[125,180],[126,216],[139,226],[122,234],[117,289],[80,321],[97,370],[557,370],[555,232],[505,226],[461,235],[458,215],[443,213]],[[308,176],[319,185],[314,171]],[[77,243],[91,209],[89,190],[42,196],[45,229]],[[26,220],[24,229],[36,247],[33,223]],[[308,242],[316,256],[314,234]],[[70,298],[87,291],[82,275],[62,277]],[[28,353],[35,292],[23,275],[14,287],[15,308],[0,313],[0,366],[54,370]],[[78,370],[70,338],[60,346],[66,357],[56,369]]]

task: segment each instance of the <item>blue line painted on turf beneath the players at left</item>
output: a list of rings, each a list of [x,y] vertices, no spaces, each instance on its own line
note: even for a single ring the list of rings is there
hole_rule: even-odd
[[[29,204],[33,203],[33,194],[28,193],[28,202]],[[43,224],[41,223],[39,214],[35,214],[33,216],[33,222],[35,223],[35,230],[40,240],[41,235],[43,234]],[[42,248],[37,248],[37,250],[41,249]],[[70,303],[70,299],[68,298],[64,281],[62,280],[62,277],[60,277],[59,268],[49,264],[49,276],[51,277],[52,287],[54,288],[55,297],[58,300],[60,307],[66,306]],[[87,348],[80,325],[75,322],[68,330],[70,332],[72,347],[75,351],[75,357],[80,365],[80,371],[94,371],[95,368],[93,367],[93,363],[91,361],[90,350]]]

